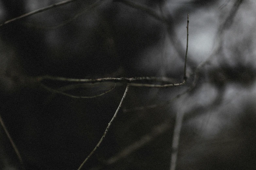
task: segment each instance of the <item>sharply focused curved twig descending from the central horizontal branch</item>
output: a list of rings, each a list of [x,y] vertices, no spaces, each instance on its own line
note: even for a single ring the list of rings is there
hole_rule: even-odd
[[[103,134],[103,136],[101,137],[101,139],[99,140],[98,144],[95,146],[95,148],[94,148],[94,149],[92,150],[92,152],[87,156],[87,158],[84,160],[84,162],[79,166],[79,168],[78,168],[77,170],[80,170],[80,169],[82,168],[82,166],[87,162],[87,160],[94,154],[95,150],[100,146],[100,144],[101,144],[101,142],[103,141],[104,137],[106,136],[106,134],[107,134],[107,132],[108,132],[108,130],[109,130],[109,128],[110,128],[112,122],[114,121],[114,119],[115,119],[115,117],[116,117],[116,115],[117,115],[119,109],[120,109],[121,106],[122,106],[122,103],[123,103],[123,101],[124,101],[124,99],[125,99],[125,96],[126,96],[126,94],[127,94],[127,92],[128,92],[128,89],[129,89],[129,85],[126,86],[125,93],[124,93],[124,95],[123,95],[123,97],[122,97],[122,99],[121,99],[121,101],[120,101],[120,104],[119,104],[119,106],[117,107],[114,116],[113,116],[112,119],[110,120],[110,122],[109,122],[109,124],[108,124],[108,126],[107,126],[107,128],[106,128],[106,130],[105,130],[105,132],[104,132],[104,134]]]

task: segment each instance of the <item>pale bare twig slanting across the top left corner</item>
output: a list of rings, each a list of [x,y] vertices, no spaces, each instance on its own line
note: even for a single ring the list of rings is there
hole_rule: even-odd
[[[22,18],[26,18],[28,16],[31,16],[31,15],[34,15],[34,14],[37,14],[37,13],[40,13],[40,12],[43,12],[43,11],[46,11],[48,9],[52,9],[52,8],[55,8],[55,7],[59,7],[61,5],[65,5],[65,4],[68,4],[68,3],[71,3],[73,1],[76,1],[76,0],[65,0],[65,1],[61,1],[61,2],[58,2],[56,4],[52,4],[52,5],[49,5],[49,6],[46,6],[46,7],[43,7],[43,8],[40,8],[40,9],[37,9],[37,10],[34,10],[34,11],[31,11],[31,12],[28,12],[24,15],[21,15],[21,16],[18,16],[16,18],[13,18],[11,20],[8,20],[8,21],[5,21],[4,23],[0,24],[0,27],[5,25],[5,24],[8,24],[10,22],[13,22],[13,21],[17,21],[17,20],[20,20]]]

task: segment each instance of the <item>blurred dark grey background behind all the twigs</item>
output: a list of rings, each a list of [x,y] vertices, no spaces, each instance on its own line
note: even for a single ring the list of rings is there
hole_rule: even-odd
[[[56,2],[2,0],[0,21]],[[121,0],[102,1],[85,11],[94,2],[78,0],[0,27],[0,114],[24,168],[77,169],[125,91],[125,85],[117,84],[103,96],[74,99],[52,94],[32,78],[165,76],[182,82],[189,13],[187,83],[165,89],[130,87],[109,133],[83,168],[169,169],[175,117],[182,114],[176,169],[255,169],[256,3],[133,1],[164,16],[166,24]],[[96,95],[112,86],[89,84],[69,92]],[[138,109],[152,105],[157,106]],[[158,130],[160,125],[166,128]],[[148,136],[126,157],[107,163]],[[0,169],[22,169],[2,128]]]

